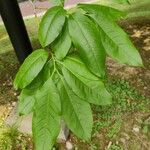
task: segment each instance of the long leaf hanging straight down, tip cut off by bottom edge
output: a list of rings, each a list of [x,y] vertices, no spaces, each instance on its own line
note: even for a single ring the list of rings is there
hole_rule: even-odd
[[[49,78],[37,92],[33,114],[33,139],[36,150],[51,150],[60,131],[60,97]]]

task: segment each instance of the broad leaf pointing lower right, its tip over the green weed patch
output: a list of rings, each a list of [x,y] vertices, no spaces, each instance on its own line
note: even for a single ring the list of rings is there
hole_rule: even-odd
[[[64,78],[76,95],[96,105],[111,104],[111,95],[106,90],[103,82],[92,75],[79,59],[67,57],[63,63],[67,68],[63,68]]]

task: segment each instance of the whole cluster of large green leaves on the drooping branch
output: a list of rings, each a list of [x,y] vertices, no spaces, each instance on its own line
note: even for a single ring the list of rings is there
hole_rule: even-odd
[[[34,114],[37,150],[53,147],[61,119],[77,137],[90,140],[90,103],[103,107],[113,103],[104,83],[106,53],[121,63],[142,66],[138,51],[115,22],[122,12],[101,5],[66,11],[60,2],[41,20],[43,49],[24,61],[14,81],[14,87],[22,90],[20,114]]]

